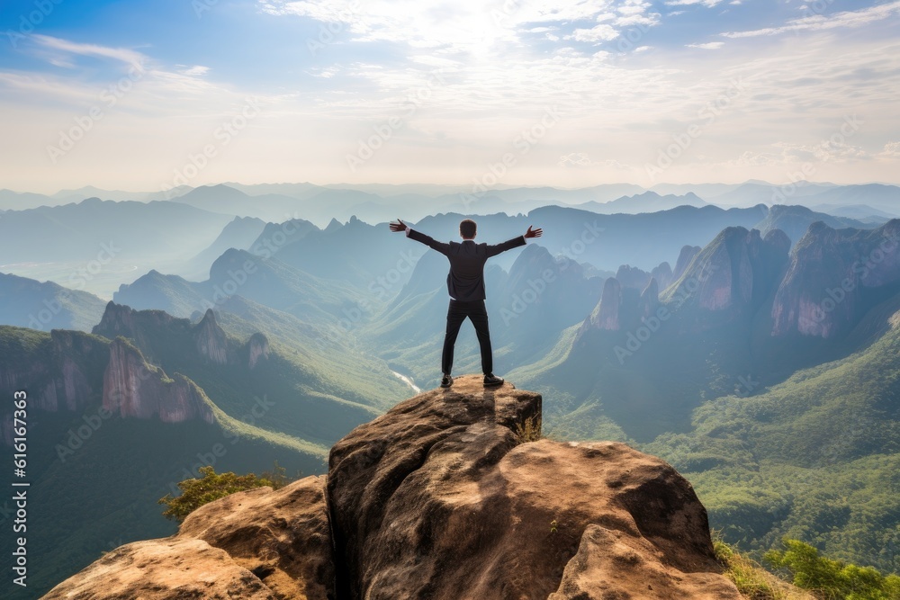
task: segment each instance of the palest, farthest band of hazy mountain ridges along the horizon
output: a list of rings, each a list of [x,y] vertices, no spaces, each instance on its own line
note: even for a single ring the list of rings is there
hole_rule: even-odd
[[[412,220],[437,212],[473,210],[475,214],[527,212],[547,204],[578,206],[599,212],[642,212],[671,209],[679,204],[703,203],[728,208],[757,204],[802,204],[834,216],[889,219],[900,216],[896,185],[838,185],[799,181],[769,184],[600,184],[563,189],[547,186],[498,185],[491,189],[472,185],[437,184],[238,184],[181,186],[166,193],[122,192],[86,186],[52,195],[0,190],[0,210],[24,210],[56,206],[99,197],[112,201],[179,201],[214,212],[252,216],[276,222],[304,217],[324,226],[328,219],[346,220],[352,215],[370,222],[395,214]],[[682,199],[678,200],[677,197]],[[662,197],[665,200],[662,200]],[[326,209],[327,210],[324,210]],[[871,210],[867,210],[871,209]],[[512,211],[512,212],[510,212]]]

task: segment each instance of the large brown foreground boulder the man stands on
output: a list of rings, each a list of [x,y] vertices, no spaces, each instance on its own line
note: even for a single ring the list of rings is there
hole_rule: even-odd
[[[328,479],[203,506],[45,597],[741,597],[670,465],[621,443],[523,443],[540,415],[533,392],[460,378],[357,427]]]

